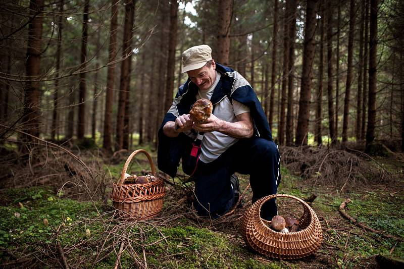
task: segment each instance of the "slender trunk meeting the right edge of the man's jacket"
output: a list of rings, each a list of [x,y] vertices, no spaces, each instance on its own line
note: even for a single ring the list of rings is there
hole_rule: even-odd
[[[272,73],[271,73],[271,95],[269,98],[269,126],[272,127],[274,120],[274,97],[275,97],[275,80],[277,73],[277,47],[278,47],[278,0],[274,0],[274,26],[273,26],[273,46],[272,46]]]

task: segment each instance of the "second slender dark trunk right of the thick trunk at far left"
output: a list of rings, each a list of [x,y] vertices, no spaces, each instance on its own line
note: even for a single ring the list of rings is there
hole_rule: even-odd
[[[84,71],[86,67],[87,60],[87,27],[88,27],[88,10],[90,8],[90,0],[86,0],[84,4],[84,14],[83,14],[83,30],[81,39],[81,53],[80,53],[80,69]],[[84,137],[85,132],[85,93],[86,93],[86,73],[80,73],[80,84],[79,84],[79,115],[77,122],[77,139]]]

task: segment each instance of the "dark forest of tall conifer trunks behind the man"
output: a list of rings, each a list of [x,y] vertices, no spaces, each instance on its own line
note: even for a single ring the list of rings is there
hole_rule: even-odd
[[[403,150],[402,25],[398,0],[2,0],[2,141],[155,147],[182,51],[205,43],[255,89],[280,145]]]

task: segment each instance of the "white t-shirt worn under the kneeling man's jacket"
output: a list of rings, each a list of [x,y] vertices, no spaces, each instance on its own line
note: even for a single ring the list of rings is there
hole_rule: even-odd
[[[216,71],[216,80],[213,85],[206,91],[198,90],[196,99],[206,98],[211,99],[213,90],[219,83],[221,74]],[[236,100],[230,102],[228,97],[223,98],[214,105],[213,114],[219,119],[226,122],[237,122],[236,116],[249,112],[249,107]],[[228,136],[221,132],[207,132],[202,140],[201,153],[199,159],[204,163],[210,163],[218,158],[223,152],[238,141],[237,138]]]

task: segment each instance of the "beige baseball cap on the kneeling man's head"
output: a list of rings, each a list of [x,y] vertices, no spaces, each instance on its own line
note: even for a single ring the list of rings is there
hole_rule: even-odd
[[[188,72],[203,67],[212,60],[212,48],[208,45],[199,45],[188,48],[182,53],[182,71]]]

